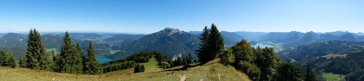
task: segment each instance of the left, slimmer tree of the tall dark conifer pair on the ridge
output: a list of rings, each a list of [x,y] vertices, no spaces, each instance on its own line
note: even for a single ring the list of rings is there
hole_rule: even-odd
[[[209,49],[208,49],[209,33],[210,33],[209,28],[207,28],[207,26],[205,26],[205,28],[202,30],[201,37],[199,37],[199,39],[201,40],[198,43],[199,47],[197,50],[195,50],[195,53],[197,54],[197,57],[199,58],[199,60],[201,62],[207,61],[206,55],[209,53]]]

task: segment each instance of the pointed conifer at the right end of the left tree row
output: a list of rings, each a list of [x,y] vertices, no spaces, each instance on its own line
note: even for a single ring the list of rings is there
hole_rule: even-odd
[[[87,49],[88,54],[87,56],[87,62],[86,62],[86,74],[89,75],[94,75],[94,74],[100,74],[102,73],[102,68],[98,62],[98,60],[96,59],[96,54],[94,51],[94,45],[92,45],[92,43],[89,43],[88,49]]]

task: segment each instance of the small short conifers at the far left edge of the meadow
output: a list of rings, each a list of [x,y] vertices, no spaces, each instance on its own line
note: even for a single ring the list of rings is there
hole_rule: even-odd
[[[8,54],[6,54],[5,51],[0,50],[0,66],[11,68],[17,67],[17,62],[15,61],[13,53],[10,49],[8,50]]]

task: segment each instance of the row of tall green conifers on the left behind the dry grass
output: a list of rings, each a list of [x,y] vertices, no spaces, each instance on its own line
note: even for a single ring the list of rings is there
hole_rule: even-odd
[[[94,75],[103,73],[101,65],[96,60],[91,42],[86,56],[82,54],[82,49],[78,43],[74,45],[71,42],[71,37],[66,32],[60,54],[54,54],[54,50],[52,50],[52,54],[51,52],[46,53],[40,33],[36,29],[31,29],[27,40],[27,54],[20,58],[19,67],[71,74]],[[11,55],[11,51],[8,55]],[[2,56],[1,51],[0,56]]]

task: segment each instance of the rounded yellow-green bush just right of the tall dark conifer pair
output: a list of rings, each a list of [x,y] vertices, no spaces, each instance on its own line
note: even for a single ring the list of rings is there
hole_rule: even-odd
[[[220,58],[220,62],[222,64],[230,64],[235,61],[234,54],[230,48],[222,49],[217,55],[217,58]]]

